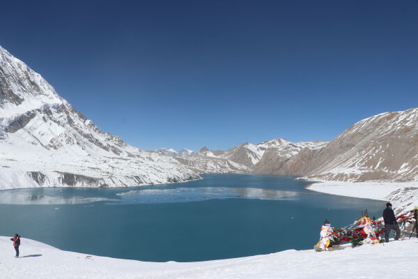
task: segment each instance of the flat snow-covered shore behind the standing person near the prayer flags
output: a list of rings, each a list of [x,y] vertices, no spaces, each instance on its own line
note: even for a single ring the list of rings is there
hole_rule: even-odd
[[[307,188],[331,195],[390,201],[397,212],[418,206],[418,182],[323,181]]]

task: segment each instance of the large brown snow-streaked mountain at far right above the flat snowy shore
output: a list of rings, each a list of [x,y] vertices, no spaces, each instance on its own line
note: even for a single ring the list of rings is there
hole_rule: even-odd
[[[416,181],[418,108],[355,123],[311,161],[309,180]]]

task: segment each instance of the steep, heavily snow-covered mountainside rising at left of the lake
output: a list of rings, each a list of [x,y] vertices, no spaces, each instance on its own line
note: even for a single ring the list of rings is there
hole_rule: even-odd
[[[199,179],[177,160],[104,133],[0,47],[0,190]]]

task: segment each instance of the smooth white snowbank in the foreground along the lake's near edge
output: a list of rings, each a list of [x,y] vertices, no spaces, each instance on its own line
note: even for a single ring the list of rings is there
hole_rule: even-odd
[[[314,243],[313,243],[314,244]],[[123,243],[121,243],[121,246]],[[139,262],[67,252],[0,236],[0,274],[6,278],[418,278],[418,240],[393,241],[334,252],[286,250],[270,255],[209,262]]]

